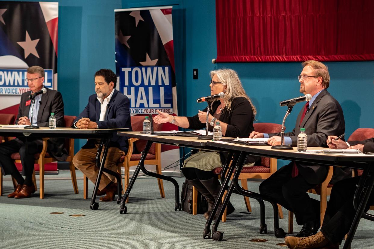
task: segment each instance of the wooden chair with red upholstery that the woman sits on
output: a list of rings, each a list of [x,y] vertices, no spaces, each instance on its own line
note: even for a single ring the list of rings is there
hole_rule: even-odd
[[[273,123],[256,123],[253,124],[255,131],[260,133],[278,133],[281,132],[282,125],[273,124]],[[214,174],[221,174],[222,168],[216,168]],[[277,159],[275,158],[261,158],[261,165],[243,167],[240,172],[239,179],[242,184],[243,189],[248,190],[248,179],[266,179],[270,177],[277,170]],[[226,194],[226,193],[225,193]],[[197,190],[193,187],[193,200],[192,200],[192,214],[197,214],[197,200],[194,199],[194,196],[197,197]],[[223,198],[225,195],[223,196]],[[223,201],[223,199],[222,199]],[[252,212],[251,203],[249,202],[249,197],[244,196],[244,202],[248,212]],[[279,206],[280,207],[280,206]],[[281,210],[281,209],[279,209]],[[283,214],[280,212],[279,217],[283,218]],[[222,221],[226,221],[226,210],[222,215]]]

